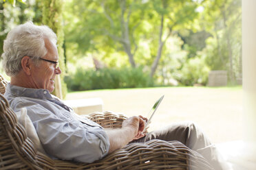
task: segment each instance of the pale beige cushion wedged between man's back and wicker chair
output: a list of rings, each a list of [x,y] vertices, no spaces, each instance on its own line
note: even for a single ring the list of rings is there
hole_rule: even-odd
[[[41,151],[41,153],[45,154],[45,150],[43,149],[43,146],[39,140],[39,136],[36,133],[36,129],[34,128],[34,125],[30,120],[30,117],[28,117],[27,109],[21,108],[21,111],[16,112],[16,114],[19,123],[21,123],[21,125],[23,125],[23,127],[25,128],[28,138],[30,138],[31,141],[34,143],[34,148],[37,151]]]

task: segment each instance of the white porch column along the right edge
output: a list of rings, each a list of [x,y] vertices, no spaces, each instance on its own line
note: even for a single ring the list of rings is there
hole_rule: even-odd
[[[256,143],[256,1],[242,1],[244,139]]]

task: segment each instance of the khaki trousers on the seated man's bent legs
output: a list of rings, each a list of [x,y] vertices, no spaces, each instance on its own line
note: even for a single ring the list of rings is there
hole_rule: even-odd
[[[180,141],[186,147],[201,154],[216,170],[226,169],[225,162],[215,145],[191,122],[173,123],[162,130],[149,132],[147,136],[140,138],[133,143],[143,143],[152,139],[163,141]]]

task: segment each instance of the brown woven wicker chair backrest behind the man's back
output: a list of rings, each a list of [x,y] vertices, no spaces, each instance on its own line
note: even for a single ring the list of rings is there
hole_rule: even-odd
[[[1,94],[0,119],[0,169],[43,169],[32,141]]]

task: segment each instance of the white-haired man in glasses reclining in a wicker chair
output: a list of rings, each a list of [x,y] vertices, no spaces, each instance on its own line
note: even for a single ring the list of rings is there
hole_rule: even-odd
[[[3,51],[3,68],[11,77],[5,97],[14,111],[27,108],[41,144],[52,158],[93,162],[131,141],[158,138],[180,141],[202,154],[216,169],[222,169],[209,139],[193,123],[174,124],[145,134],[142,130],[147,120],[141,116],[128,118],[117,130],[77,117],[50,94],[61,69],[56,34],[49,27],[32,22],[15,27],[4,41]]]

